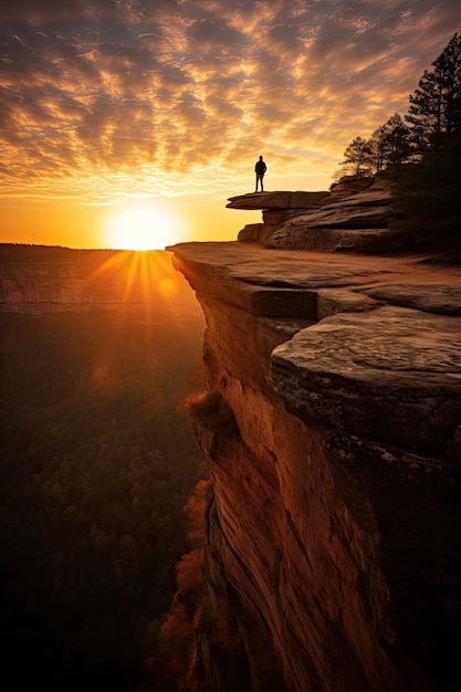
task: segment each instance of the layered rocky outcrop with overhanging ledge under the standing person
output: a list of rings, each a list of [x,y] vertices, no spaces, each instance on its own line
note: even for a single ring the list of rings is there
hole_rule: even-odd
[[[262,209],[263,222],[245,226],[239,241],[266,248],[311,250],[398,249],[401,238],[388,229],[390,179],[354,178],[331,192],[260,192],[230,198],[230,209]]]

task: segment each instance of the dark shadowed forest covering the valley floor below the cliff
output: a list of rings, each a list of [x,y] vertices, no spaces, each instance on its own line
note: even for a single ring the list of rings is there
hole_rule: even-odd
[[[202,319],[0,315],[1,647],[19,688],[133,692],[208,476]]]

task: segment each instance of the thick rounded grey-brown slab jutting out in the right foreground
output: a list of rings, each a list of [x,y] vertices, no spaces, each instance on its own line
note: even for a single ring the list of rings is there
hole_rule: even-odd
[[[298,413],[442,451],[461,420],[460,321],[394,306],[336,314],[274,349],[271,381]]]

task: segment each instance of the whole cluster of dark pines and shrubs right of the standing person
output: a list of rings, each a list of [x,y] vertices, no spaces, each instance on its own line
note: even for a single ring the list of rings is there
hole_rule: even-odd
[[[336,178],[388,169],[395,179],[390,228],[401,248],[442,251],[459,262],[461,36],[452,36],[432,67],[409,96],[405,122],[396,113],[369,139],[356,137]]]

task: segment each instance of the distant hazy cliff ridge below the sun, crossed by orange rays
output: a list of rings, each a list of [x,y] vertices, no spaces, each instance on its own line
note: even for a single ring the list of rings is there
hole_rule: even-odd
[[[197,314],[196,301],[177,276],[168,253],[159,251],[0,244],[0,312],[40,316],[129,308]]]

